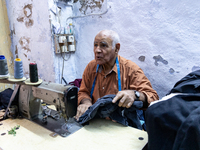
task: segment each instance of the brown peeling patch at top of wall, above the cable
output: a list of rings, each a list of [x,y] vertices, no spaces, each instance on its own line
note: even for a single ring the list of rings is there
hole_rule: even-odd
[[[81,5],[81,8],[79,9],[79,11],[81,13],[85,14],[85,15],[86,15],[88,8],[90,8],[91,13],[92,13],[96,8],[101,9],[102,4],[104,2],[104,0],[99,0],[99,1],[96,1],[96,0],[76,0],[76,1],[74,1],[74,3],[76,3],[77,1],[79,1],[80,5]]]

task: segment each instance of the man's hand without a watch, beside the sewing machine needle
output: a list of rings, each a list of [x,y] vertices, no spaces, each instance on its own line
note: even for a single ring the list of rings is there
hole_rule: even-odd
[[[90,106],[92,106],[92,102],[88,99],[83,99],[77,108],[75,119],[79,120],[80,116],[82,116]]]

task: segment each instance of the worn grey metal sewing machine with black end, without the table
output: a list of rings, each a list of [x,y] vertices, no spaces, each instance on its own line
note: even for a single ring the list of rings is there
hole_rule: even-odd
[[[4,80],[5,81],[5,80]],[[8,82],[4,82],[8,83]],[[82,126],[73,118],[77,111],[78,88],[42,82],[39,86],[17,83],[19,115],[63,137]],[[54,106],[54,107],[52,107]]]

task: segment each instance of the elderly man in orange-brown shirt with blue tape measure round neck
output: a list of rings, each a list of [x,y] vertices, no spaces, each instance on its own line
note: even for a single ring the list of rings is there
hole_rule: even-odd
[[[78,92],[78,120],[99,98],[116,94],[112,102],[129,108],[134,101],[142,101],[143,108],[158,100],[156,91],[134,62],[118,55],[119,36],[112,30],[100,31],[94,39],[95,59],[85,68]]]

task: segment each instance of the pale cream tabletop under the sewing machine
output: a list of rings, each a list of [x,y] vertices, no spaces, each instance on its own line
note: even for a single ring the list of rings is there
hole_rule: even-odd
[[[145,131],[106,119],[92,120],[67,137],[52,137],[51,131],[27,119],[6,119],[0,124],[0,150],[141,150],[148,141]],[[16,136],[8,134],[17,125]]]

